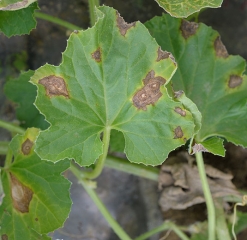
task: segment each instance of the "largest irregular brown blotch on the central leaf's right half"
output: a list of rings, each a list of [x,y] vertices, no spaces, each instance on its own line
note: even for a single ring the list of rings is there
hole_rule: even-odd
[[[162,96],[160,86],[165,84],[163,77],[155,76],[155,72],[150,71],[143,79],[144,87],[138,90],[132,98],[133,104],[138,109],[147,110],[147,105],[154,104]]]

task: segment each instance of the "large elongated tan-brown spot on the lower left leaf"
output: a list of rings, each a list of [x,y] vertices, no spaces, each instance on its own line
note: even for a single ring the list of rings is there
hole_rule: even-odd
[[[13,174],[10,174],[10,178],[13,206],[17,211],[27,213],[29,211],[30,201],[33,197],[33,192],[31,189],[19,182]]]

